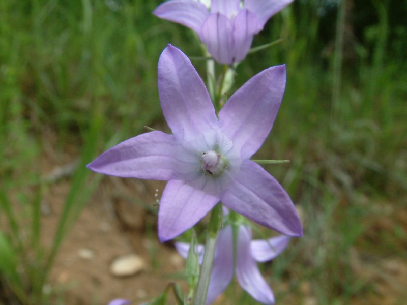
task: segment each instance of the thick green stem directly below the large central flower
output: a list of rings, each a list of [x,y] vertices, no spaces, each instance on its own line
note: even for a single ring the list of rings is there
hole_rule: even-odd
[[[205,243],[205,253],[203,254],[202,267],[200,270],[198,288],[196,291],[195,305],[205,305],[208,294],[209,279],[211,276],[212,263],[215,255],[216,240],[220,228],[219,210],[221,205],[217,204],[211,212],[208,225],[207,241]]]

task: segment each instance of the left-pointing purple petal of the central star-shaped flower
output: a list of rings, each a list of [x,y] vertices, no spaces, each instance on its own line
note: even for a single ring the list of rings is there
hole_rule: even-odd
[[[88,168],[107,175],[169,180],[177,175],[181,150],[173,135],[153,131],[128,139],[105,151]]]

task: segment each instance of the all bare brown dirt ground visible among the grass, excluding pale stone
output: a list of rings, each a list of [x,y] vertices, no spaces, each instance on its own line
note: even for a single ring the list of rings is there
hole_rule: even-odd
[[[55,152],[51,146],[45,145],[43,148],[43,175],[72,162],[72,156],[77,155],[73,147],[59,152]],[[69,178],[60,179],[50,184],[45,191],[43,205],[46,213],[42,220],[46,245],[51,243],[69,183]],[[180,280],[183,259],[171,243],[163,245],[158,242],[156,216],[154,212],[143,208],[143,205],[147,205],[153,210],[157,209],[154,206],[156,189],[160,196],[164,186],[165,182],[108,176],[103,178],[63,242],[51,275],[52,286],[62,291],[66,304],[107,304],[111,299],[119,297],[136,300],[136,304],[140,303],[138,300],[157,296],[171,280],[183,282]],[[379,219],[374,231],[392,230],[392,221],[397,217],[398,223],[407,228],[407,211],[401,209]],[[374,236],[379,235],[373,232]],[[364,238],[369,238],[368,234]],[[111,262],[130,253],[141,256],[146,262],[146,269],[127,278],[112,276],[109,272]],[[407,287],[406,262],[390,258],[371,263],[362,259],[357,252],[354,260],[355,276],[369,279],[375,285],[377,294],[355,299],[353,304],[402,305],[398,300],[401,294],[405,294],[404,288]],[[303,295],[309,294],[309,297],[299,301],[290,296],[285,298],[284,303],[318,304],[311,295],[309,283],[303,283],[302,286],[301,292]],[[273,288],[276,291],[289,289],[285,283],[273,283]],[[169,303],[174,302],[170,300]],[[220,297],[217,303],[225,304],[227,301]]]

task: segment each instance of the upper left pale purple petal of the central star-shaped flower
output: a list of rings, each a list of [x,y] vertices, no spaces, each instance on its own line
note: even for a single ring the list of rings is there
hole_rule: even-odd
[[[208,90],[188,57],[168,45],[158,62],[162,111],[178,139],[194,138],[218,124]]]

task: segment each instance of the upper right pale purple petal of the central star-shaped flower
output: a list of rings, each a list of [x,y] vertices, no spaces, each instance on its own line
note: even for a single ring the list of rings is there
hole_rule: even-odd
[[[242,159],[250,158],[269,135],[284,89],[285,65],[271,67],[247,81],[220,110],[221,129],[241,149]]]

